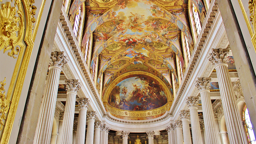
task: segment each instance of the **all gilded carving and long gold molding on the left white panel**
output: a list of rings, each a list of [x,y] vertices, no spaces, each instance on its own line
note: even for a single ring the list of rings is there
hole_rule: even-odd
[[[34,46],[32,33],[36,36],[41,19],[41,15],[38,15],[37,20],[34,17],[37,9],[33,5],[34,0],[7,1],[9,2],[0,6],[0,51],[8,52],[8,56],[14,58],[12,59],[14,65],[12,65],[13,73],[8,76],[10,79],[6,76],[6,79],[0,83],[0,131],[2,132],[0,144],[9,143],[28,62]],[[33,29],[33,22],[36,22],[35,30]],[[7,72],[5,71],[7,69],[1,70],[3,73]],[[4,88],[6,80],[9,87]]]

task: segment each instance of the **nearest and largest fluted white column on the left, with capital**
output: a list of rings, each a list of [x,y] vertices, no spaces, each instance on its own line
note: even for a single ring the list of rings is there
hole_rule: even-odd
[[[34,144],[49,144],[57,100],[61,68],[67,63],[63,52],[52,52],[44,97],[36,127]]]

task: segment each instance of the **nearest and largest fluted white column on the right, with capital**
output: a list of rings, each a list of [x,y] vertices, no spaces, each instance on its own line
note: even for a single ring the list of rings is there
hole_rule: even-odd
[[[228,138],[231,144],[246,144],[241,117],[239,116],[236,97],[228,73],[227,54],[229,49],[212,49],[210,61],[215,65],[220,87],[220,97],[226,119]]]

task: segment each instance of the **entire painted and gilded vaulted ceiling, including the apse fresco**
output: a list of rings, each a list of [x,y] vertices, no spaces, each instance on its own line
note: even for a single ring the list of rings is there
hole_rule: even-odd
[[[193,3],[202,5],[201,0]],[[99,61],[97,87],[102,83],[103,102],[129,111],[171,102],[172,79],[178,83],[176,57],[185,68],[181,33],[193,43],[188,0],[86,0],[85,5],[89,16],[82,45],[92,34],[90,68]],[[134,76],[121,78],[128,73]]]

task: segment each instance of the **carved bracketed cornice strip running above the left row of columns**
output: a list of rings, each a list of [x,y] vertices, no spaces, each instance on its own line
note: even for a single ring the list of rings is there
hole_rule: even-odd
[[[69,45],[73,50],[72,54],[74,55],[74,57],[76,57],[76,61],[80,65],[80,68],[81,68],[82,72],[84,73],[84,77],[87,80],[95,99],[97,100],[97,103],[101,109],[101,112],[103,113],[103,115],[105,115],[106,110],[103,106],[103,103],[100,102],[100,95],[96,89],[96,86],[94,85],[92,77],[90,76],[90,72],[86,66],[86,62],[84,59],[82,59],[83,54],[82,54],[81,50],[79,49],[78,44],[76,43],[75,35],[73,33],[72,27],[69,23],[68,17],[66,15],[66,12],[63,7],[61,9],[59,19],[60,19],[59,23],[62,26],[61,30],[66,34],[66,40],[69,42]]]

